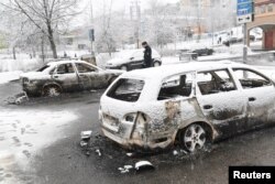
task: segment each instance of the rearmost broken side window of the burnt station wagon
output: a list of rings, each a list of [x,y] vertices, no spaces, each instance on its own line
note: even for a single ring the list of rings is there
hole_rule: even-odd
[[[162,84],[157,100],[188,97],[191,94],[193,75],[177,75],[165,79]]]

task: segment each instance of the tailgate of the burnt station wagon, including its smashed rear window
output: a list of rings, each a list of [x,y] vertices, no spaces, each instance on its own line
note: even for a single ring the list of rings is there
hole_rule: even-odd
[[[120,78],[102,96],[99,118],[105,130],[121,139],[131,138],[143,86],[143,80]]]

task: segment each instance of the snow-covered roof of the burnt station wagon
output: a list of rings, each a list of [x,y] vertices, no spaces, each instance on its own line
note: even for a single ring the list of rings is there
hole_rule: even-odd
[[[165,78],[172,75],[188,73],[188,72],[200,72],[211,69],[222,69],[227,67],[245,67],[250,68],[249,65],[241,63],[234,63],[231,61],[220,62],[189,62],[184,64],[163,65],[160,67],[152,67],[146,69],[135,69],[122,74],[122,78],[136,78],[136,79],[156,79]]]

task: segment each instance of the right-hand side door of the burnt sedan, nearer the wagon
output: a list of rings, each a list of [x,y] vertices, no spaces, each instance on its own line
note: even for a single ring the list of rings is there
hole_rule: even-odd
[[[75,63],[75,65],[82,89],[87,90],[107,86],[108,76],[103,72],[85,63]]]

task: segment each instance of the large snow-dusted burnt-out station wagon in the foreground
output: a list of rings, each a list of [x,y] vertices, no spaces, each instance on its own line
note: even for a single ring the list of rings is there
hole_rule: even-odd
[[[255,68],[190,62],[122,74],[102,95],[99,119],[103,134],[128,149],[178,143],[195,152],[271,126],[274,104],[274,83]]]

